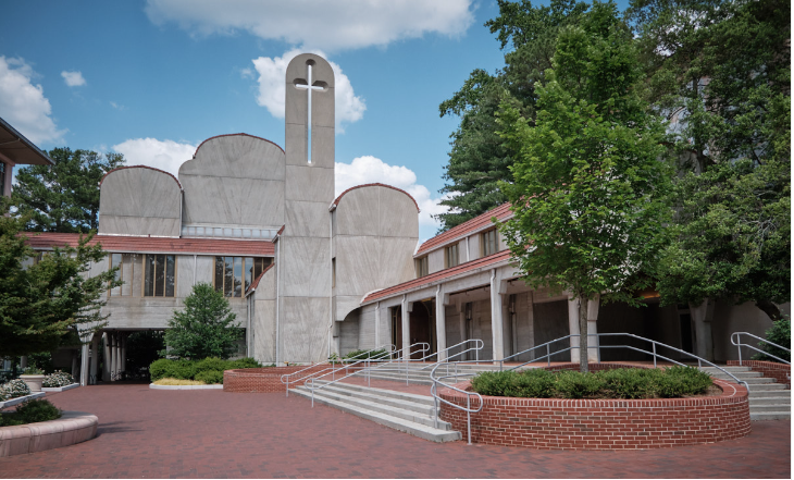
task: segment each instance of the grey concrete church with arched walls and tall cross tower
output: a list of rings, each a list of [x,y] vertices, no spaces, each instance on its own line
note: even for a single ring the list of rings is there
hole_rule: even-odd
[[[204,140],[177,176],[139,165],[102,179],[92,242],[110,255],[92,272],[120,267],[124,284],[108,293],[108,325],[91,339],[98,352],[104,335],[106,371],[97,372],[92,355],[84,376],[107,380],[123,370],[126,335],[165,329],[198,282],[228,297],[246,332],[238,354],[263,364],[311,364],[419,342],[445,358],[474,339],[483,343],[481,359],[525,361],[545,352],[514,355],[579,333],[575,301],[530,288],[511,264],[492,221],[508,219],[508,205],[417,247],[419,207],[406,192],[369,184],[335,198],[333,70],[305,53],[291,60],[285,81],[284,148],[221,135]],[[46,233],[29,244],[47,250],[77,239]],[[592,301],[591,333],[634,333],[723,361],[736,355],[732,332],[764,335],[771,327],[749,304],[660,307],[658,294],[645,296],[646,308]],[[711,318],[719,321],[712,325]],[[88,356],[86,345],[84,362]],[[604,360],[618,357],[645,359],[601,352]]]

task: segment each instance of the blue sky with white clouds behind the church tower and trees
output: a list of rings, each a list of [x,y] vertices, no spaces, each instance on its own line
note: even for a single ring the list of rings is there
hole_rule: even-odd
[[[176,173],[215,135],[284,146],[283,69],[319,52],[337,76],[337,192],[407,189],[424,239],[458,124],[438,104],[472,70],[504,65],[483,26],[497,14],[491,0],[5,2],[0,116],[44,149]]]

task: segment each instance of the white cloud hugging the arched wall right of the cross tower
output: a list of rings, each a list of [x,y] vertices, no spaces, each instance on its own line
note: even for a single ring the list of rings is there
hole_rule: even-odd
[[[407,167],[389,165],[372,157],[357,157],[350,163],[336,163],[336,195],[346,189],[367,183],[384,183],[406,190],[419,205],[420,226],[438,227],[441,223],[431,216],[445,213],[448,208],[438,205],[444,197],[432,198],[424,185],[417,183],[417,174]]]

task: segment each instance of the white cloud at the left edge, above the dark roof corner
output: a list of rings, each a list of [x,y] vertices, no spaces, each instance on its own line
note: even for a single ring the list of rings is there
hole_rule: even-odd
[[[23,59],[0,56],[0,114],[34,144],[63,141],[65,130],[58,130],[50,118],[52,107],[36,75]]]

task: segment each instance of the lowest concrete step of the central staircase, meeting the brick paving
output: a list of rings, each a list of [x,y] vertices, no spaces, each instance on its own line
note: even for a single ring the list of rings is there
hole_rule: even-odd
[[[298,395],[311,398],[311,393],[303,387],[295,389],[293,392]],[[314,393],[314,402],[337,408],[347,414],[365,418],[368,420],[374,421],[375,423],[389,427],[394,430],[410,433],[414,436],[419,436],[420,439],[430,440],[432,442],[454,442],[461,439],[460,432],[444,430],[442,428],[434,428],[432,424],[427,426],[398,417],[396,415],[384,414],[382,411],[376,411],[363,406],[353,405],[349,402],[334,399],[330,396],[324,395],[322,393],[322,390]],[[442,422],[439,422],[439,427],[442,426]],[[449,428],[448,423],[444,427]]]

